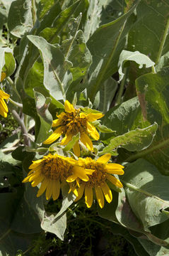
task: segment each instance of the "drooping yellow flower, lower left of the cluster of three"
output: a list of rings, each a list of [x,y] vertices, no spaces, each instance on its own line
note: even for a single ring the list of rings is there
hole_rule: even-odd
[[[58,154],[48,154],[42,159],[33,161],[29,169],[31,171],[28,176],[24,178],[23,183],[32,182],[33,187],[41,183],[40,189],[37,192],[37,197],[41,196],[46,191],[46,198],[53,198],[57,200],[60,193],[61,183],[66,181],[66,178],[71,176],[71,180],[75,181],[80,178],[82,181],[88,181],[86,172],[81,167],[76,166],[76,160],[66,156],[59,156]],[[70,184],[71,185],[71,184]]]

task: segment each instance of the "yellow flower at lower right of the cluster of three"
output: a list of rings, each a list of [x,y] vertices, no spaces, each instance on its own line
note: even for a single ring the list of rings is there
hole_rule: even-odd
[[[97,161],[91,159],[90,157],[87,157],[86,159],[78,159],[78,165],[81,166],[81,169],[93,171],[93,173],[88,176],[88,181],[82,181],[80,178],[76,179],[78,188],[77,190],[74,188],[73,192],[76,191],[75,195],[77,194],[78,196],[76,197],[75,201],[81,199],[83,193],[85,193],[86,206],[91,208],[93,204],[94,191],[100,208],[104,207],[105,200],[108,203],[112,201],[112,191],[107,185],[107,181],[110,181],[115,186],[122,188],[122,183],[112,174],[124,174],[124,166],[120,164],[107,164],[110,157],[110,154],[105,154],[100,156]],[[69,176],[66,181],[71,182],[71,178],[74,180],[74,176]]]

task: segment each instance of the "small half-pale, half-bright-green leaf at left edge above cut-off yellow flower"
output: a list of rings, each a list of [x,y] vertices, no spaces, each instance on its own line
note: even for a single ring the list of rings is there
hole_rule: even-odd
[[[13,58],[13,50],[10,48],[0,48],[0,74],[2,71],[8,75],[12,75],[16,69],[16,61]]]

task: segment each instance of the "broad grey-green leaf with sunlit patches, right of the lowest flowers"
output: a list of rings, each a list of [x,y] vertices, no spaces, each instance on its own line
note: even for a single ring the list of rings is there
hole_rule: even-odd
[[[168,208],[169,178],[144,159],[128,164],[122,178],[127,199],[134,214],[147,232],[153,225],[168,220],[163,213]]]

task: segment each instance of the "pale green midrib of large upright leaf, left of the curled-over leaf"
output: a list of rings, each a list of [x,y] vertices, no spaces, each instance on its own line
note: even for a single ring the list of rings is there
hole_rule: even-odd
[[[104,77],[104,75],[105,75],[105,73],[106,73],[106,71],[107,71],[107,68],[109,67],[109,65],[110,65],[110,63],[111,63],[111,61],[112,61],[112,58],[113,58],[114,55],[115,55],[115,52],[116,52],[118,43],[119,43],[119,41],[120,41],[120,38],[121,38],[121,36],[122,36],[122,31],[124,30],[125,24],[126,24],[126,21],[124,22],[122,28],[120,29],[120,33],[119,33],[119,35],[118,35],[117,38],[116,38],[115,46],[114,46],[114,48],[112,48],[112,52],[110,53],[109,59],[108,59],[107,62],[105,63],[105,66],[104,66],[103,70],[99,73],[98,79],[96,80],[95,85],[93,86],[93,90],[91,91],[91,94],[89,95],[89,98],[91,99],[92,102],[93,102],[93,100],[94,100],[94,98],[95,98],[96,92],[98,92],[98,89],[99,89],[99,87],[100,87],[100,83],[101,83],[102,80],[103,80],[103,77]]]

